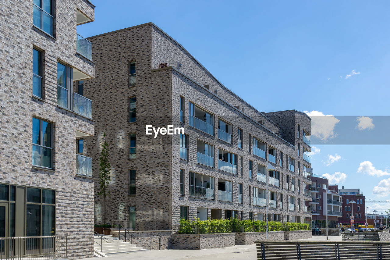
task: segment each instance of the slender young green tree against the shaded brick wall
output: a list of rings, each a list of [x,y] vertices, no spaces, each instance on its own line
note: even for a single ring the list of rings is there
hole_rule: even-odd
[[[103,133],[103,137],[106,137],[106,133]],[[99,178],[100,178],[100,191],[98,195],[103,196],[103,208],[104,208],[104,223],[106,224],[106,197],[110,195],[108,185],[111,182],[111,164],[108,162],[108,142],[104,139],[104,142],[100,144],[102,147],[100,163],[99,163]]]

